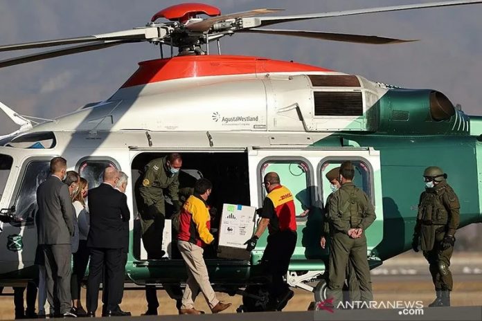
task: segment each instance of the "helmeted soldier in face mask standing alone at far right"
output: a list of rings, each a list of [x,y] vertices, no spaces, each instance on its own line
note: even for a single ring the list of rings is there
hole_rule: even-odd
[[[436,291],[436,299],[429,306],[450,306],[453,280],[449,266],[461,206],[454,190],[445,181],[447,174],[440,167],[427,167],[423,176],[425,192],[420,194],[412,248],[418,252],[420,241],[420,248],[429,262]]]

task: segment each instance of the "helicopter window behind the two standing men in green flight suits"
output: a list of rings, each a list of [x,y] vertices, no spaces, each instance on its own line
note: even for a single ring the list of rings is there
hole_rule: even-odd
[[[326,203],[326,198],[332,193],[330,188],[330,182],[325,178],[325,174],[330,172],[334,167],[341,165],[343,160],[329,160],[321,166],[321,181],[323,187],[323,203]],[[353,177],[353,183],[361,188],[373,202],[371,192],[371,169],[366,163],[361,160],[351,160],[353,167],[355,167],[355,177]]]

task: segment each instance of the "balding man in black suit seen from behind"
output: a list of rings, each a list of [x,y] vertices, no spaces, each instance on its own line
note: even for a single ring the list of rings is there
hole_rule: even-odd
[[[130,312],[120,310],[118,302],[122,297],[124,282],[123,255],[125,221],[129,221],[127,196],[114,187],[118,182],[118,172],[107,167],[104,182],[89,190],[90,229],[87,247],[91,251],[89,281],[87,282],[87,316],[95,316],[99,285],[102,279],[102,266],[107,276],[107,309],[102,316],[125,316]]]

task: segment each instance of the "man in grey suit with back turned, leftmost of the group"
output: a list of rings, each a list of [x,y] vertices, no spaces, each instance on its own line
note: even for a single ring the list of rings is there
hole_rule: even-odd
[[[71,237],[74,234],[72,201],[69,187],[62,183],[67,161],[51,160],[51,176],[37,188],[39,225],[38,244],[42,246],[46,268],[48,304],[54,314],[75,317],[71,310]]]

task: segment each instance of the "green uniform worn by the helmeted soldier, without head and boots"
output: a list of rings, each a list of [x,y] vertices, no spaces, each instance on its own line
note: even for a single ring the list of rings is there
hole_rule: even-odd
[[[443,250],[441,243],[446,234],[455,235],[459,223],[460,203],[446,181],[420,194],[417,223],[413,237],[420,237],[420,248],[427,262],[436,291],[452,291],[452,273],[449,270],[454,247]]]

